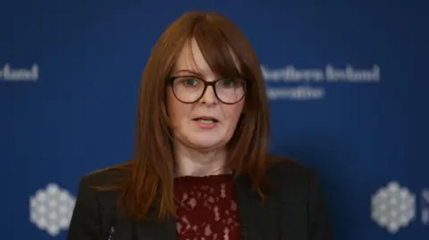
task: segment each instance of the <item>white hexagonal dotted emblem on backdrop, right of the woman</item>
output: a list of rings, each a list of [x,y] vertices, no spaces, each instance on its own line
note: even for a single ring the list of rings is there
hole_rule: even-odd
[[[372,196],[371,208],[372,219],[393,234],[416,218],[416,196],[391,182]]]

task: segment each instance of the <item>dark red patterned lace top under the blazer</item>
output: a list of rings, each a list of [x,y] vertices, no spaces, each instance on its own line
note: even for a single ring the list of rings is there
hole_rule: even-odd
[[[174,180],[178,240],[240,240],[233,177],[180,177]]]

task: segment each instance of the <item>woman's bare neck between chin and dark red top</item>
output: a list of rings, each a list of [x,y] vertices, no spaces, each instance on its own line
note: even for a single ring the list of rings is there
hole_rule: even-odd
[[[224,174],[226,150],[202,152],[185,145],[174,145],[176,176],[207,176]]]

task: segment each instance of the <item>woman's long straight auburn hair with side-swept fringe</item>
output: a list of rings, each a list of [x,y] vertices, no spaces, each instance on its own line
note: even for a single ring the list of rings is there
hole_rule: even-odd
[[[247,175],[253,190],[265,198],[269,141],[269,108],[257,54],[247,37],[217,12],[185,12],[164,30],[152,49],[139,88],[137,130],[132,160],[105,170],[128,170],[129,178],[102,189],[120,189],[120,208],[141,219],[156,205],[158,218],[175,214],[172,125],[166,108],[165,78],[182,48],[195,39],[210,68],[223,77],[237,73],[248,79],[245,106],[228,144],[227,168]]]

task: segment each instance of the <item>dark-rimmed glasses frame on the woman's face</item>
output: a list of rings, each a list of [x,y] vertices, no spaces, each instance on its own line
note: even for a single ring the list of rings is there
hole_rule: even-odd
[[[179,97],[177,97],[177,95],[176,95],[176,93],[175,93],[175,91],[174,91],[174,81],[175,81],[176,79],[179,79],[179,78],[193,78],[193,79],[201,80],[201,81],[204,83],[204,89],[203,89],[203,92],[202,92],[202,93],[201,93],[201,95],[197,98],[197,100],[195,100],[195,101],[191,101],[191,102],[186,102],[186,101],[182,101],[181,99],[179,99]],[[219,97],[219,95],[217,95],[216,87],[215,87],[217,82],[222,81],[222,80],[224,80],[224,79],[228,79],[228,78],[215,79],[214,81],[211,81],[211,82],[206,81],[205,79],[202,79],[202,78],[199,78],[199,77],[196,77],[196,76],[192,76],[192,75],[185,75],[185,76],[171,76],[171,77],[167,77],[167,78],[166,78],[166,80],[167,80],[168,82],[170,82],[170,84],[171,84],[171,86],[172,86],[172,95],[174,95],[174,97],[175,97],[178,101],[180,101],[181,103],[197,103],[197,102],[201,99],[201,97],[203,97],[203,95],[204,95],[204,94],[206,94],[207,87],[209,87],[209,86],[213,88],[214,95],[216,96],[217,100],[219,100],[221,103],[229,104],[229,105],[231,105],[231,104],[235,104],[235,103],[239,103],[239,102],[244,98],[244,96],[246,95],[246,93],[248,92],[248,80],[247,80],[247,79],[240,79],[240,78],[239,78],[240,80],[243,80],[243,81],[244,81],[244,93],[243,93],[243,95],[240,97],[240,99],[239,99],[239,100],[237,100],[237,101],[236,101],[236,102],[234,102],[234,103],[226,103],[226,102],[223,102],[223,101],[222,101],[222,99]]]

